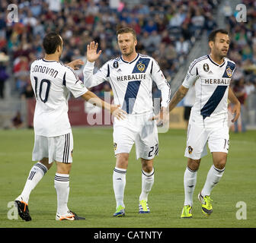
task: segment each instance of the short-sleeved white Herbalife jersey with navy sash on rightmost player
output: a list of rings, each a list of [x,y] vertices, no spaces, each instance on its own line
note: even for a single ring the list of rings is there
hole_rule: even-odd
[[[190,64],[183,86],[195,83],[196,100],[190,120],[203,127],[227,126],[229,84],[235,70],[235,62],[224,58],[218,65],[210,55],[203,55]]]

